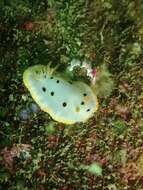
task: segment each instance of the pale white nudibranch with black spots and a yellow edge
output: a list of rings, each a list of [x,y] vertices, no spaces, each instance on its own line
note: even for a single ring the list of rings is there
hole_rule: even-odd
[[[86,122],[98,108],[97,97],[89,85],[68,80],[49,66],[29,67],[23,81],[41,110],[58,122]]]

